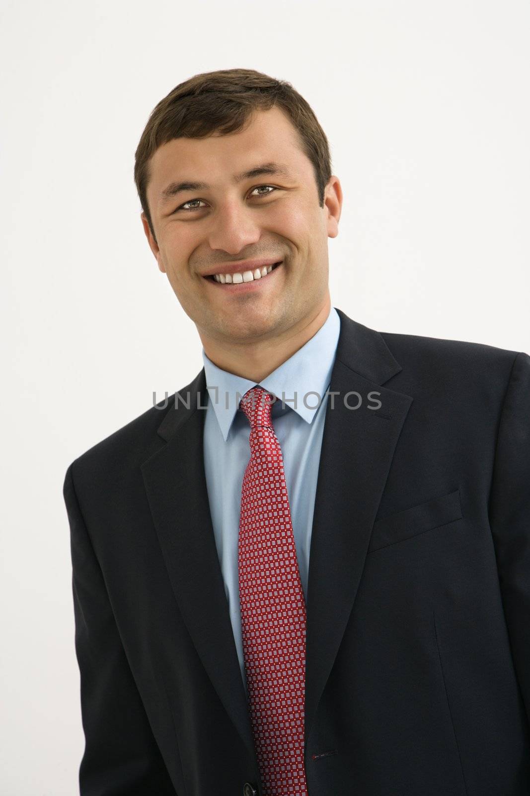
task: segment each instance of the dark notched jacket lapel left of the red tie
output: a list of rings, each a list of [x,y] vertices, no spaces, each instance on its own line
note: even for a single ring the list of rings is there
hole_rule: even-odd
[[[180,612],[226,712],[254,756],[204,473],[205,412],[197,408],[198,401],[203,408],[207,401],[204,369],[179,394],[184,403],[177,409],[170,405],[158,429],[167,444],[143,463],[142,475]]]

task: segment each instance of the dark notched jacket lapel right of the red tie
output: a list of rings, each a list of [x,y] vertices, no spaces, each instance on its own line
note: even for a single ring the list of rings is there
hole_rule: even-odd
[[[341,333],[324,422],[311,532],[305,738],[308,741],[364,568],[369,537],[412,397],[383,388],[401,370],[381,334],[340,310]],[[377,392],[369,400],[369,392]],[[358,409],[348,392],[362,397]],[[346,396],[350,406],[358,396]],[[378,409],[369,409],[374,401]]]

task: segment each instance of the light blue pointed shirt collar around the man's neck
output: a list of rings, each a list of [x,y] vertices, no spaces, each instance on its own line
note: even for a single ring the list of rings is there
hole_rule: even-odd
[[[311,423],[331,381],[339,333],[339,314],[335,307],[331,307],[326,322],[318,332],[259,383],[218,368],[203,349],[209,403],[215,410],[225,442],[238,412],[239,400],[256,384],[273,392],[277,396],[277,404],[281,406],[281,401],[284,400],[285,408],[291,408],[306,423]],[[293,401],[295,396],[296,405]]]

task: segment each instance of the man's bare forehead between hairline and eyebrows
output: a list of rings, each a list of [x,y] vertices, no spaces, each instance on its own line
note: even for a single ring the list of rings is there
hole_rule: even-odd
[[[255,111],[246,127],[236,133],[172,139],[159,146],[149,162],[149,205],[160,204],[168,182],[200,181],[221,187],[235,175],[265,162],[280,163],[297,176],[312,173],[298,132],[277,107]]]

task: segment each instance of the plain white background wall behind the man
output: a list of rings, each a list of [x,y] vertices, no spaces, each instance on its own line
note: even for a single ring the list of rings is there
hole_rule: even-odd
[[[64,473],[202,367],[149,251],[133,154],[218,68],[289,80],[344,191],[331,299],[374,329],[530,352],[525,2],[6,2],[0,792],[83,752]]]

